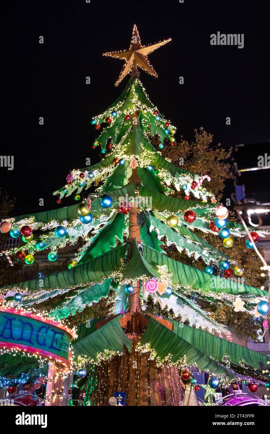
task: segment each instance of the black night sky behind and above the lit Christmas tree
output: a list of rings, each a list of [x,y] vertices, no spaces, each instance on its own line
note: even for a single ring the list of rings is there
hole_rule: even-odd
[[[0,168],[0,185],[16,197],[14,214],[57,208],[51,192],[65,184],[67,173],[85,167],[86,158],[92,164],[100,160],[98,148],[91,148],[96,130],[90,119],[117,98],[128,80],[114,86],[123,61],[102,53],[128,49],[135,23],[143,45],[173,39],[149,55],[158,78],[142,71],[140,79],[151,101],[177,126],[176,138],[191,140],[194,128],[203,126],[225,148],[267,142],[267,3],[11,2],[8,51],[2,58],[9,79],[2,83],[8,104],[0,153],[14,155],[14,170]],[[211,46],[210,34],[218,31],[244,33],[244,48]],[[44,44],[39,44],[41,35]],[[231,125],[225,124],[227,116]],[[70,203],[74,201],[62,201],[64,206]]]

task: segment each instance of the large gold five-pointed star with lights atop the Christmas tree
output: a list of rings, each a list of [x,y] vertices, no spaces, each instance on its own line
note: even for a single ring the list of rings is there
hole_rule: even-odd
[[[136,24],[133,27],[132,38],[129,50],[125,51],[111,51],[109,53],[103,53],[103,56],[110,57],[118,57],[118,59],[125,59],[125,65],[122,69],[122,72],[119,76],[119,79],[116,82],[116,86],[122,81],[122,79],[131,71],[133,68],[134,72],[138,70],[137,66],[140,66],[145,71],[149,72],[154,77],[157,77],[157,73],[155,72],[153,66],[148,61],[148,54],[152,53],[157,48],[161,47],[164,44],[170,42],[171,39],[166,39],[165,41],[158,42],[157,44],[142,46],[139,32],[137,30]]]

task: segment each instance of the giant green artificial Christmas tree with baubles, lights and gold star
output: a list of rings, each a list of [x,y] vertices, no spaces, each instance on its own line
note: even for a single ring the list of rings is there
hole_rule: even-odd
[[[199,300],[226,303],[252,316],[257,303],[267,300],[266,291],[242,282],[244,270],[229,256],[233,236],[244,237],[244,227],[227,220],[228,210],[207,186],[208,174],[183,170],[151,143],[157,135],[160,149],[174,145],[176,128],[148,98],[138,67],[156,76],[147,55],[169,41],[141,46],[134,26],[129,50],[105,54],[125,59],[116,85],[127,74],[130,78],[119,98],[91,121],[100,133],[93,148],[100,147],[104,158],[67,175],[65,185],[54,192],[58,209],[5,222],[8,230],[11,225],[10,235],[25,242],[6,254],[26,264],[45,249],[54,262],[67,243],[84,240],[67,270],[1,291],[6,298],[22,293],[23,307],[35,309],[67,293],[48,312],[60,320],[108,298],[111,315],[79,325],[73,342],[74,365],[88,374],[78,383],[86,386],[87,403],[107,405],[121,391],[127,393],[128,405],[181,405],[182,380],[189,378],[180,372],[194,366],[218,377],[222,385],[251,378],[267,381],[262,371],[269,358],[227,340],[226,327],[199,306]],[[173,197],[172,186],[185,191],[185,199]],[[77,203],[62,207],[71,195]],[[35,230],[42,236],[36,237]],[[207,243],[203,233],[222,238],[228,254]],[[255,241],[257,233],[251,237]],[[171,244],[201,258],[205,270],[168,257],[161,247]],[[181,316],[196,327],[145,314],[150,295],[172,310],[174,318]],[[11,377],[10,372],[5,376]]]

